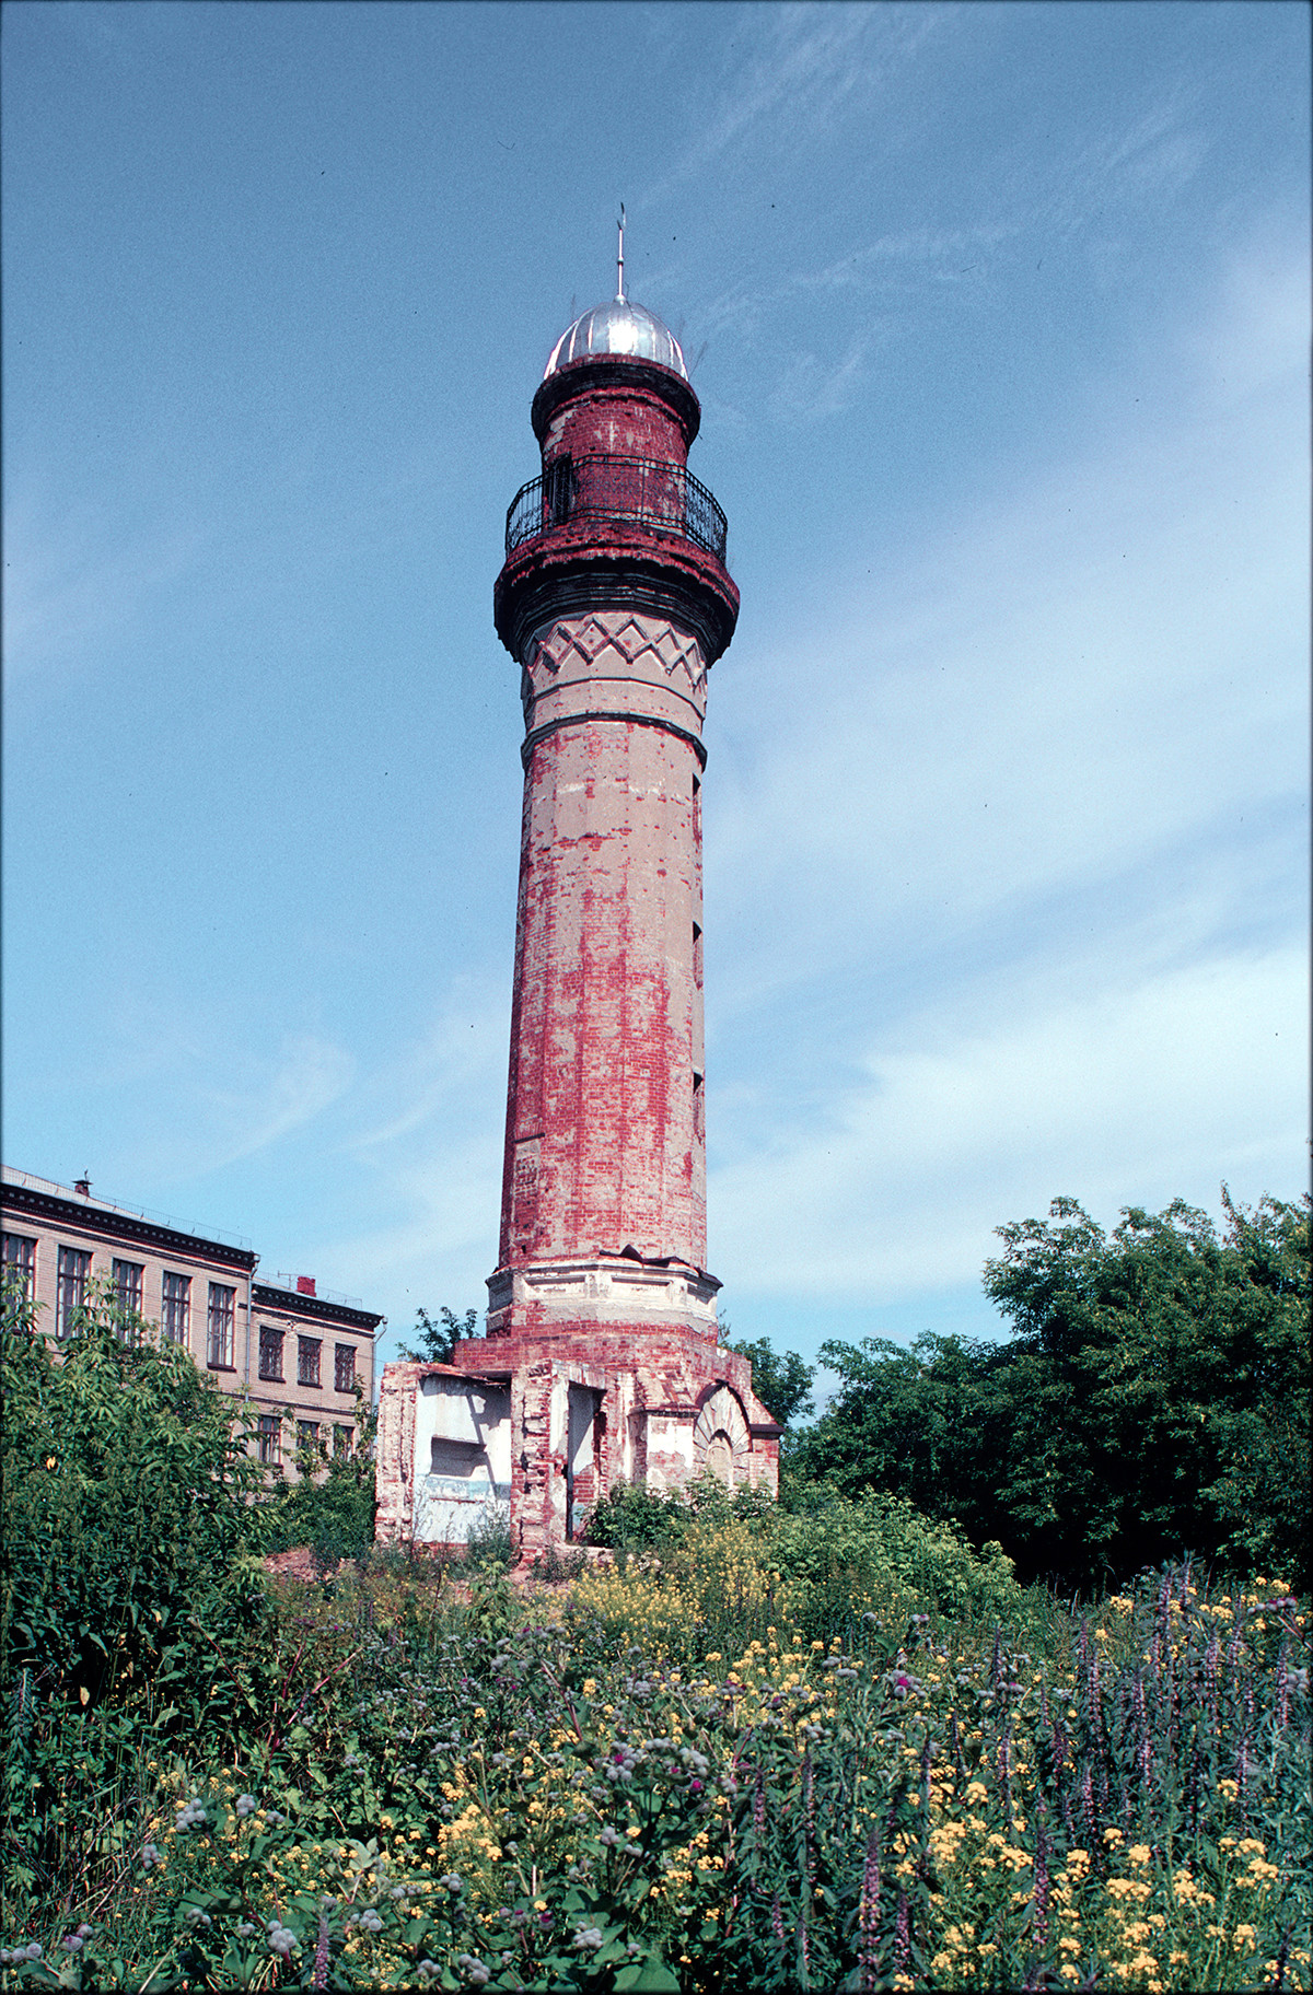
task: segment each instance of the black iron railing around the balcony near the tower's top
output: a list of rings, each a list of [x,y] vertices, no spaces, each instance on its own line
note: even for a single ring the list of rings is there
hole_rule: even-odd
[[[656,457],[559,457],[511,501],[507,555],[553,527],[587,519],[633,521],[724,561],[724,513],[692,473]]]

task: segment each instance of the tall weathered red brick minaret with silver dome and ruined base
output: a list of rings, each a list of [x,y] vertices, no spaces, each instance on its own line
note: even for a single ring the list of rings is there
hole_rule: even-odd
[[[487,1337],[385,1369],[381,1538],[461,1544],[493,1506],[533,1556],[619,1478],[776,1490],[780,1428],[704,1267],[702,718],[738,591],[686,469],[698,421],[621,263],[533,397],[543,473],[493,598],[525,814]]]

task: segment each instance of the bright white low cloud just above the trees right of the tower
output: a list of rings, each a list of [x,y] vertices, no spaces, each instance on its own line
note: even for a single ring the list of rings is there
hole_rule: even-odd
[[[1215,1205],[1221,1177],[1293,1195],[1303,952],[1109,968],[1072,966],[1088,996],[1014,988],[974,1031],[906,1021],[902,1043],[864,1055],[828,1127],[716,1171],[712,1259],[730,1295],[950,1289],[980,1275],[994,1227],[1060,1191],[1101,1215],[1177,1191]]]

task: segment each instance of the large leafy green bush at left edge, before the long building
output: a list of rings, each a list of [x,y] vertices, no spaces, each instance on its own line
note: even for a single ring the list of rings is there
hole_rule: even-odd
[[[58,1359],[10,1295],[2,1375],[0,1688],[96,1706],[186,1676],[259,1600],[245,1410],[108,1289]]]

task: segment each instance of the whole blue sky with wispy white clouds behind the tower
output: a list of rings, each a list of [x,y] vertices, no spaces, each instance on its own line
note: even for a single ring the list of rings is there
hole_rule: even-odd
[[[682,337],[734,1335],[988,1333],[994,1227],[1307,1171],[1309,14],[26,4],[4,1157],[483,1307],[491,626],[555,337]]]

